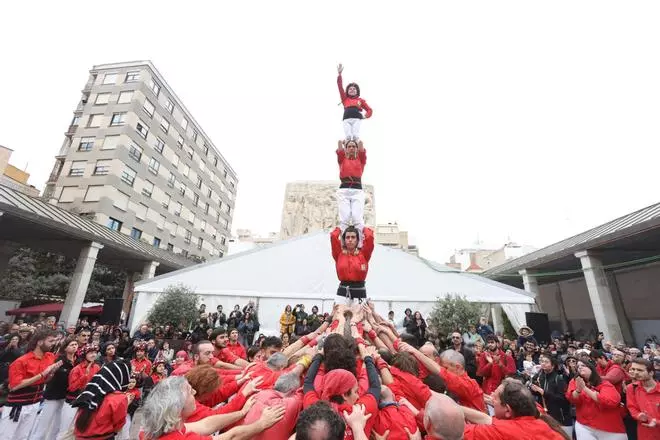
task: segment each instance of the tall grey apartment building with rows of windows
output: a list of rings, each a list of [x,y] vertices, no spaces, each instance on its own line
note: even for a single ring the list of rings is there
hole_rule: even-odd
[[[238,179],[149,61],[90,70],[44,198],[184,256],[227,252]]]

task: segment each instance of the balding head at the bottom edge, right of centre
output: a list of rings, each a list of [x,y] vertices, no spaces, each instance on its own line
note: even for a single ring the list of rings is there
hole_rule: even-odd
[[[444,394],[433,394],[424,408],[426,431],[442,440],[462,440],[465,416],[461,407]]]

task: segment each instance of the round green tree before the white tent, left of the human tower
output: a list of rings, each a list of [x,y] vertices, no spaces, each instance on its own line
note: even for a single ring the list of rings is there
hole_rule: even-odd
[[[189,328],[199,318],[199,296],[183,284],[168,286],[149,310],[152,324]]]

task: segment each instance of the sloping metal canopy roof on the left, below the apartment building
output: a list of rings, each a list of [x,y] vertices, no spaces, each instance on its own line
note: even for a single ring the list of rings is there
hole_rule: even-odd
[[[129,272],[142,272],[144,264],[150,261],[160,263],[158,273],[195,264],[0,185],[0,241],[5,240],[73,258],[78,258],[82,247],[97,242],[103,245],[97,258],[99,262]]]

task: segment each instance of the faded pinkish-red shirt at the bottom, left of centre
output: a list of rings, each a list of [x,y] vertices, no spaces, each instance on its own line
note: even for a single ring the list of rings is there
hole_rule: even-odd
[[[249,425],[261,417],[265,408],[283,405],[284,418],[270,428],[252,437],[253,440],[287,440],[296,427],[298,414],[302,411],[302,391],[285,396],[279,391],[264,390],[256,395],[256,403],[245,415],[242,425]]]

